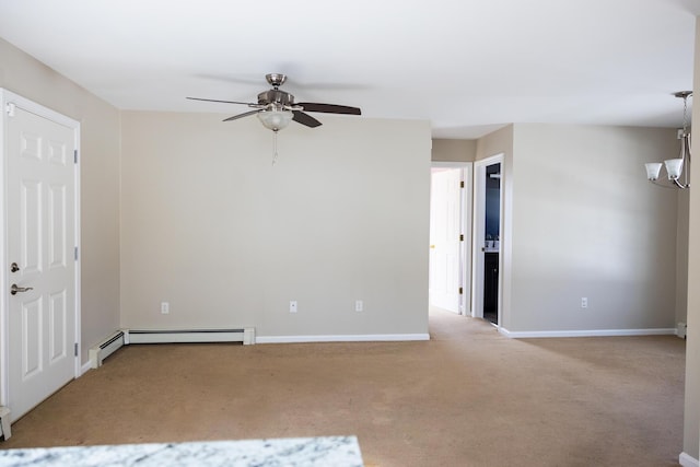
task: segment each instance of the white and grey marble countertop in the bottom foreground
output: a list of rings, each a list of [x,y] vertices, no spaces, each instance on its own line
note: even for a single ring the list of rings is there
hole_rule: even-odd
[[[355,436],[36,447],[0,451],[4,466],[361,467]]]

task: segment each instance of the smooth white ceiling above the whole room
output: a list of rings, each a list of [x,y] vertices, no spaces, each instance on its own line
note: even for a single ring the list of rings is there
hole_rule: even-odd
[[[235,115],[185,96],[256,102],[282,72],[298,102],[471,139],[679,126],[696,15],[699,0],[0,0],[0,37],[122,109]]]

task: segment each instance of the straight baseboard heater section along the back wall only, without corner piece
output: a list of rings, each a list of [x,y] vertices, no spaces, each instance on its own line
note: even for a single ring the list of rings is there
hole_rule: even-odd
[[[243,342],[255,343],[255,328],[153,330],[129,329],[127,343]]]

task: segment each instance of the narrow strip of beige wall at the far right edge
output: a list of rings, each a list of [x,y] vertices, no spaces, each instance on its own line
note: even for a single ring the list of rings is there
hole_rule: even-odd
[[[693,90],[700,94],[700,17],[696,22],[696,61]],[[700,121],[700,105],[692,106],[692,121]],[[700,141],[700,126],[692,126],[692,140]],[[700,165],[691,165],[690,232],[688,235],[688,336],[686,343],[686,409],[684,453],[700,459]]]

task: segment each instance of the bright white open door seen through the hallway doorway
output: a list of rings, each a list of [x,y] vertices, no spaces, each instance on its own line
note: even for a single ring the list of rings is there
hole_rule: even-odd
[[[459,235],[462,234],[462,170],[431,176],[430,303],[459,313]]]

